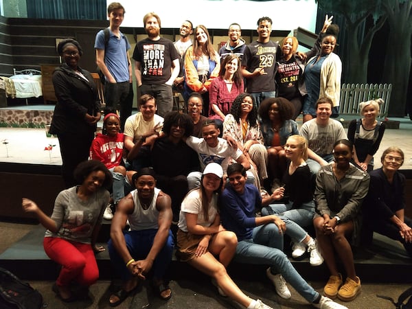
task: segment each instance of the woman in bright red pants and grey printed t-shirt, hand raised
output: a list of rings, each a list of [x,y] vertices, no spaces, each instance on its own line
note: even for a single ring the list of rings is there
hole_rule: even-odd
[[[73,282],[87,290],[99,278],[95,253],[104,209],[110,194],[112,175],[97,160],[81,162],[73,172],[78,183],[60,192],[54,202],[52,216],[47,216],[34,201],[23,198],[25,212],[35,214],[47,229],[43,247],[47,256],[61,265],[53,291],[62,301],[75,301]]]

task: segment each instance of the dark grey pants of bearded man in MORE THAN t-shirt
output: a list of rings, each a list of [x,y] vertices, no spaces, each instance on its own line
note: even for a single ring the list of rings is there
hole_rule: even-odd
[[[156,99],[157,113],[161,117],[173,109],[173,91],[172,86],[168,84],[142,84],[140,87],[142,95],[150,94]]]

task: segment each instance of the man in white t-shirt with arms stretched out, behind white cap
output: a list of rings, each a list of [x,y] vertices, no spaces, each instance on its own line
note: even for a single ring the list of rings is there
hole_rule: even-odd
[[[249,161],[244,157],[242,150],[231,147],[225,139],[219,136],[220,130],[214,120],[207,120],[202,128],[203,138],[190,136],[185,139],[186,144],[193,148],[201,161],[201,169],[211,162],[218,163],[222,166],[223,172],[226,174],[227,166],[231,159],[243,165],[247,170],[251,168]],[[191,172],[187,175],[189,190],[198,187],[201,184],[201,172]],[[226,177],[224,176],[224,179]],[[249,182],[253,183],[255,177],[248,171]]]

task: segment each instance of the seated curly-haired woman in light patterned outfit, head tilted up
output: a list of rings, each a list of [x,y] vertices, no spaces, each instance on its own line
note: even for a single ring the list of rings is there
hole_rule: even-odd
[[[260,131],[258,108],[249,93],[240,93],[233,101],[230,112],[223,122],[223,135],[230,135],[235,139],[238,148],[249,159],[251,172],[255,174],[256,186],[260,190],[264,179],[268,178],[268,153]]]

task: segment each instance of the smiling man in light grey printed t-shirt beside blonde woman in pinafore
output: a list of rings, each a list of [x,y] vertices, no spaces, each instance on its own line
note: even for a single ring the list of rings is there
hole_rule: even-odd
[[[312,174],[323,165],[334,160],[333,145],[340,139],[347,139],[341,122],[330,119],[333,103],[329,98],[320,98],[316,103],[317,117],[302,124],[300,135],[308,140],[308,157],[306,161]]]

